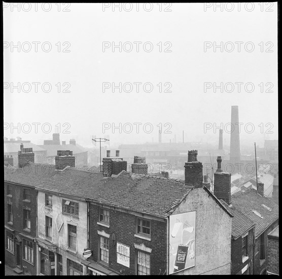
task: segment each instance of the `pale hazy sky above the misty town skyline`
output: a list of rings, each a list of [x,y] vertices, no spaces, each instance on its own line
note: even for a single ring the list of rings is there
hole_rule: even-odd
[[[21,136],[42,144],[61,123],[61,140],[75,137],[82,145],[89,145],[91,135],[108,134],[113,144],[151,142],[152,137],[157,142],[157,125],[171,123],[171,127],[165,127],[171,133],[163,134],[163,142],[169,142],[174,134],[177,134],[177,141],[182,141],[182,130],[185,130],[186,141],[217,142],[218,134],[213,129],[204,133],[204,123],[218,126],[229,123],[234,105],[239,106],[239,121],[243,127],[253,123],[255,128],[251,133],[242,131],[241,142],[263,144],[264,138],[278,136],[276,3],[272,7],[265,6],[266,3],[263,7],[258,3],[254,7],[242,3],[240,11],[235,3],[231,12],[226,11],[231,6],[223,7],[223,11],[220,8],[214,11],[214,7],[204,11],[203,3],[173,3],[171,7],[163,4],[161,12],[157,4],[153,4],[150,12],[145,9],[152,7],[144,8],[143,4],[139,4],[138,12],[136,4],[132,4],[130,12],[123,8],[121,12],[118,8],[113,11],[112,6],[103,11],[102,4],[72,3],[69,7],[61,4],[61,11],[52,4],[49,12],[46,11],[50,7],[42,7],[43,4],[38,4],[38,11],[34,11],[35,4],[30,4],[30,11],[27,11],[27,4],[19,8],[11,5],[4,7],[4,122],[10,126],[21,123],[21,127],[23,123],[30,123],[32,129],[28,131],[25,126],[28,132],[18,133],[8,128],[4,131],[8,137]],[[165,8],[171,12],[164,12]],[[62,12],[62,9],[69,12]],[[19,52],[11,48],[18,42]],[[40,42],[37,52],[36,43],[32,42]],[[105,46],[122,42],[123,48],[121,52],[118,48],[115,52],[112,48],[103,52],[103,42],[109,42],[104,43]],[[141,42],[139,52],[133,42]],[[219,46],[223,42],[223,52],[220,48],[214,51],[214,42]],[[242,42],[240,52],[235,42]],[[204,44],[211,47],[204,51]],[[51,45],[51,51],[43,51],[43,45],[47,50]],[[133,49],[129,51],[131,45]],[[153,46],[153,50],[146,52],[144,45],[147,50]],[[269,52],[271,50],[273,52]],[[38,83],[38,92],[35,92],[34,82]],[[131,83],[132,89],[127,84],[125,90],[131,92],[123,89],[119,92],[117,88],[114,92],[112,88],[103,92],[103,82],[116,86]],[[142,84],[137,93],[138,82]],[[229,83],[227,90],[231,91],[232,85],[234,89],[233,92],[226,92],[224,88],[224,92],[220,89],[214,92],[211,88],[204,92],[205,82],[212,86]],[[20,83],[20,92],[15,88],[11,92],[12,83],[14,86]],[[44,83],[51,85],[49,93],[42,91]],[[70,92],[58,92],[58,83],[60,91],[69,85]],[[150,84],[153,85],[152,92],[144,92],[145,83],[149,83],[147,91],[150,91]],[[235,83],[242,83],[241,92]],[[246,83],[249,83],[249,91],[254,85],[253,92],[245,91]],[[44,88],[48,91],[48,84]],[[40,123],[38,133],[31,124],[36,122]],[[142,123],[139,133],[133,125],[137,122]],[[50,123],[52,131],[43,133],[43,123]],[[62,127],[63,123],[69,123],[70,127]],[[112,129],[103,133],[102,123],[111,123],[111,126],[131,123],[133,130],[125,132],[130,131],[128,124],[121,133],[118,129],[114,133]],[[152,132],[144,132],[145,123],[152,124]],[[269,129],[273,133],[261,133],[262,127],[264,132]],[[68,128],[70,134],[62,134],[64,128]],[[146,128],[150,130],[150,126]],[[226,133],[227,143],[229,138],[230,134]]]

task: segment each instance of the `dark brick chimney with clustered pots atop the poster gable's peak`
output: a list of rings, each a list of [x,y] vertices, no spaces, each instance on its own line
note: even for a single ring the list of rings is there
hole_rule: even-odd
[[[201,188],[203,184],[203,165],[197,160],[198,151],[188,151],[188,162],[185,163],[185,184]]]

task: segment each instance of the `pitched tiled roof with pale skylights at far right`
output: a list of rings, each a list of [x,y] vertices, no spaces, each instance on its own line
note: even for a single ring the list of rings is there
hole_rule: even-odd
[[[245,217],[248,217],[255,223],[255,236],[258,237],[279,218],[278,205],[269,198],[262,197],[254,189],[231,195],[231,201],[233,208],[241,213],[241,215],[235,216],[232,220],[232,223],[236,226],[236,230],[240,229],[243,220]]]

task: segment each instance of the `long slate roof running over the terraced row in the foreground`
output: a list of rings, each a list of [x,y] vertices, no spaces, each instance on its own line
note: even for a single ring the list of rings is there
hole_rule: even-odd
[[[104,178],[101,172],[75,167],[58,171],[54,165],[29,163],[25,172],[6,168],[5,181],[34,186],[38,189],[89,199],[127,208],[161,218],[189,193],[183,180],[151,175],[136,175],[122,171],[117,176]]]

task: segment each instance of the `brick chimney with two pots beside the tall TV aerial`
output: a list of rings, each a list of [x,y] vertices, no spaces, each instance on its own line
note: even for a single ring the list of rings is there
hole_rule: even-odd
[[[116,155],[119,155],[119,150]],[[107,150],[107,157],[103,158],[103,176],[118,175],[122,170],[127,170],[127,162],[119,156],[111,157],[111,151]]]

